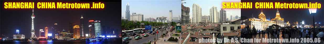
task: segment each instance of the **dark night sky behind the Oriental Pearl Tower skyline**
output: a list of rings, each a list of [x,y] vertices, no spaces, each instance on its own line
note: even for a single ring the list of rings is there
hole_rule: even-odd
[[[23,2],[23,1],[21,1]],[[88,33],[88,20],[95,19],[101,21],[101,26],[110,27],[104,29],[105,31],[111,31],[109,29],[115,29],[115,33],[118,35],[121,33],[121,2],[119,1],[106,1],[101,2],[105,4],[104,9],[36,9],[38,1],[35,2],[34,15],[34,28],[35,34],[39,37],[39,29],[44,29],[44,27],[52,27],[54,23],[58,23],[58,31],[63,29],[69,29],[69,23],[73,22],[76,25],[80,25],[80,15],[84,16],[84,31],[85,34]],[[64,1],[60,1],[64,2]],[[73,2],[73,1],[69,1]],[[74,1],[80,2],[80,1]],[[1,2],[1,6],[4,1]],[[92,6],[92,2],[89,2]],[[16,29],[20,29],[20,33],[25,35],[25,38],[30,38],[31,33],[31,15],[32,9],[17,9],[17,10],[7,10],[1,7],[1,33],[6,35],[6,37],[11,37]],[[81,30],[80,30],[81,31]],[[104,32],[104,31],[102,31]],[[111,31],[112,32],[112,31]],[[80,32],[81,33],[81,32]]]

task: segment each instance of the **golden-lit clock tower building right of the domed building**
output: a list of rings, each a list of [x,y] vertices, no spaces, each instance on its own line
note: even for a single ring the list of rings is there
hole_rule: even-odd
[[[275,21],[276,22],[276,25],[279,25],[279,26],[281,26],[281,27],[284,27],[284,18],[281,18],[280,17],[280,13],[279,13],[279,11],[278,11],[278,9],[277,9],[277,13],[276,13],[276,17],[275,18],[272,18],[271,19],[272,21]]]

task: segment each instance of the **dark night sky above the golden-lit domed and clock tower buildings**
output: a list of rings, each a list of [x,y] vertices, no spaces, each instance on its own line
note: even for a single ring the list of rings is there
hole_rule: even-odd
[[[261,10],[263,10],[263,13],[266,15],[266,18],[270,19],[275,18],[277,9],[255,9],[255,2],[272,2],[272,1],[242,1],[242,2],[252,2],[253,3],[253,9],[241,9],[241,17],[247,17],[252,18],[252,14],[254,18],[259,18],[258,15],[260,14]],[[273,1],[275,2],[275,1]],[[322,1],[276,1],[276,2],[318,2],[322,4],[323,7],[323,0]],[[323,8],[317,9],[317,14],[315,15],[315,22],[321,23],[323,25],[324,20],[324,14],[323,14]],[[308,9],[278,9],[281,18],[284,18],[284,21],[289,21],[290,24],[293,22],[298,21],[298,23],[301,23],[302,20],[305,21],[306,25],[313,25],[313,15],[309,14]]]

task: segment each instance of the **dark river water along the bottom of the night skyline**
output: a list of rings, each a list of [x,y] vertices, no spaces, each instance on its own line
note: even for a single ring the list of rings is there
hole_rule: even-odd
[[[18,41],[1,40],[0,44],[121,44],[121,38],[105,39],[101,42],[90,42],[86,40],[53,40],[53,41]]]

